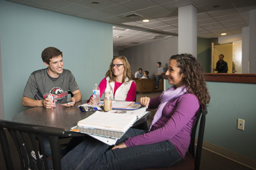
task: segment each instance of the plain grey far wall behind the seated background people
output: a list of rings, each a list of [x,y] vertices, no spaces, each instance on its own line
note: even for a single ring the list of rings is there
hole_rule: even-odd
[[[170,57],[178,53],[178,38],[171,37],[152,43],[134,46],[119,52],[129,60],[132,73],[141,67],[143,71],[149,71],[149,76],[156,74],[156,62],[162,62],[167,69]]]

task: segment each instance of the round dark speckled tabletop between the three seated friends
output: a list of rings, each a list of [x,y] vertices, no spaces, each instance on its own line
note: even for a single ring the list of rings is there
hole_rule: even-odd
[[[29,108],[22,111],[13,117],[13,122],[24,124],[43,125],[47,127],[58,127],[69,131],[71,127],[77,125],[79,120],[82,120],[94,113],[94,111],[81,112],[77,106],[85,103],[86,101],[79,101],[72,107],[61,106],[56,103],[56,108],[53,110],[44,107]],[[145,128],[147,120],[150,118],[151,112],[149,111],[144,117],[140,118],[133,127]],[[141,128],[140,128],[141,129]]]

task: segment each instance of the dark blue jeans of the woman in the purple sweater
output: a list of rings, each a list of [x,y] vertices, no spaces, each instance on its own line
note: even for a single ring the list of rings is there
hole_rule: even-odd
[[[117,143],[143,133],[145,131],[140,129],[129,129]],[[97,139],[86,138],[61,159],[61,167],[62,169],[131,170],[168,167],[181,161],[182,157],[170,141],[111,150],[109,145]]]

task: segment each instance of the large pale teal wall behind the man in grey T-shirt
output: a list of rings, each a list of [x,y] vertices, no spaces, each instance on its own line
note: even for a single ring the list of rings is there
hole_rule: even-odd
[[[92,94],[113,57],[112,25],[21,4],[0,1],[0,41],[4,116],[12,120],[22,110],[29,74],[45,65],[47,46],[63,52],[64,68],[76,77],[83,99]]]

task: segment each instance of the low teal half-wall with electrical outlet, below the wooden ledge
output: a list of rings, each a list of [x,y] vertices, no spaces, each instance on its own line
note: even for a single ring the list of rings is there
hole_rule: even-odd
[[[256,160],[256,84],[207,81],[207,87],[204,141]],[[244,131],[237,129],[237,118],[244,119]]]

